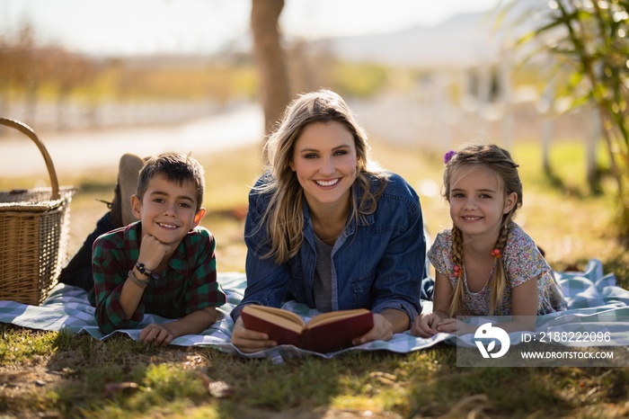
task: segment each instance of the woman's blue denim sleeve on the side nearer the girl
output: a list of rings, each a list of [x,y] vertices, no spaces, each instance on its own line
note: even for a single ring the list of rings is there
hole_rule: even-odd
[[[426,237],[421,208],[408,209],[407,216],[406,225],[398,226],[378,263],[372,311],[381,313],[389,308],[401,310],[409,316],[410,326],[415,316],[421,313]]]

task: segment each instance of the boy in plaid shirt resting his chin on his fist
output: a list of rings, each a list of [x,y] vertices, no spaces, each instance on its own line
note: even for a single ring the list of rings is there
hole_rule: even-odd
[[[199,227],[204,190],[203,168],[190,156],[162,154],[142,167],[129,200],[140,221],[93,243],[88,299],[103,333],[137,327],[145,313],[179,318],[140,333],[141,342],[167,345],[217,320],[226,295],[217,283],[215,239]]]

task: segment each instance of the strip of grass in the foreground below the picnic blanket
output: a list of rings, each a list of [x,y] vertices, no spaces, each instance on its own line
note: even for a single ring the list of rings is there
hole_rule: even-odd
[[[14,329],[3,327],[3,333],[24,341],[19,333],[25,329]],[[27,332],[31,342],[24,342],[47,345],[45,366],[60,379],[0,404],[4,413],[17,417],[414,419],[629,413],[627,369],[459,368],[456,347],[446,343],[402,354],[346,352],[332,360],[306,356],[274,364],[209,347],[155,348],[123,335],[101,342],[88,334]],[[18,369],[28,365],[15,363]],[[208,380],[223,383],[228,391],[217,395]]]

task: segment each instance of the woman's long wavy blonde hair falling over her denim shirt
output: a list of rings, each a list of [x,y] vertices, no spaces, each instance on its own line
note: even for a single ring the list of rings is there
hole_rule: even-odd
[[[259,228],[265,223],[270,240],[270,251],[262,257],[273,257],[276,263],[286,263],[297,254],[304,242],[304,191],[297,174],[288,165],[293,159],[297,138],[306,126],[315,122],[340,122],[347,128],[356,146],[357,176],[353,188],[361,192],[359,200],[351,193],[351,220],[358,222],[376,211],[377,200],[385,189],[388,175],[370,160],[367,134],[359,126],[348,105],[339,94],[326,89],[300,95],[288,105],[277,129],[264,146],[266,169],[272,176],[257,192],[270,193],[270,204],[265,209]],[[370,178],[375,176],[378,188],[370,191]],[[352,188],[352,189],[353,189]]]

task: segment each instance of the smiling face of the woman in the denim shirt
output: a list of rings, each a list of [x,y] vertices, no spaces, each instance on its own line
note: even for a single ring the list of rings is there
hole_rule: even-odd
[[[314,122],[297,138],[288,165],[311,208],[346,205],[357,175],[354,138],[341,122]]]

